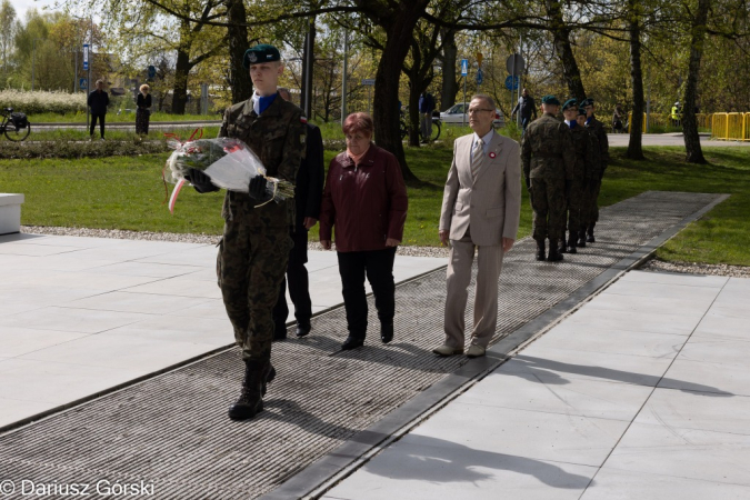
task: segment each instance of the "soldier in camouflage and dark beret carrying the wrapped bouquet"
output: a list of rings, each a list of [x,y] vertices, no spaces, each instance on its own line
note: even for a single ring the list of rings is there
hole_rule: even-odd
[[[294,182],[304,151],[302,110],[277,93],[283,71],[278,49],[261,44],[244,53],[256,88],[247,101],[224,112],[219,137],[241,139],[258,156],[268,177]],[[210,180],[191,171],[200,192],[210,191]],[[287,271],[294,222],[294,200],[270,201],[267,181],[254,177],[249,193],[228,191],[221,214],[224,233],[219,243],[217,274],[234,339],[246,363],[239,400],[229,409],[234,420],[253,418],[263,409],[266,384],[276,376],[271,366],[273,318],[271,311]]]

